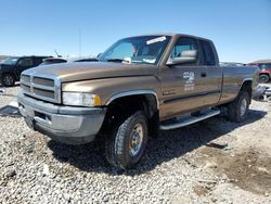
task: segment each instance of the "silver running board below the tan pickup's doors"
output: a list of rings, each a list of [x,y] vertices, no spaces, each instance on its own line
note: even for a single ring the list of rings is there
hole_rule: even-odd
[[[219,110],[210,110],[204,114],[201,114],[199,116],[189,116],[186,118],[182,118],[180,120],[177,120],[176,123],[172,124],[167,124],[167,125],[160,125],[159,128],[160,130],[170,130],[170,129],[176,129],[176,128],[181,128],[191,124],[195,124],[197,122],[207,119],[209,117],[219,115],[220,111]]]

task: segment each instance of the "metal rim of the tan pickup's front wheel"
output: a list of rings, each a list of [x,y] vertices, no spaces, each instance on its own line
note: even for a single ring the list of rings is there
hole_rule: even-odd
[[[137,124],[130,135],[129,151],[132,156],[139,154],[143,142],[143,126]]]

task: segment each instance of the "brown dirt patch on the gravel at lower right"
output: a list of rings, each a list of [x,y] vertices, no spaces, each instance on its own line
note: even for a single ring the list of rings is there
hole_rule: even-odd
[[[240,188],[257,194],[271,193],[269,155],[260,154],[254,149],[234,154],[209,146],[202,149],[201,153],[205,155],[205,160],[207,157],[207,167],[215,167],[216,171],[225,174],[230,181]]]

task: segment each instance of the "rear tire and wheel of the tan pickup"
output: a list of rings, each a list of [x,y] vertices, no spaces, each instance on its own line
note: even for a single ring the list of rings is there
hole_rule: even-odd
[[[241,91],[238,97],[228,105],[229,118],[232,122],[244,122],[247,117],[250,97],[247,91]]]

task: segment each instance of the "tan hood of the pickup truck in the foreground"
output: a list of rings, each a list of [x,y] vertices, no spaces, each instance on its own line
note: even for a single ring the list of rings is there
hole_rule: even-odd
[[[113,62],[63,63],[31,68],[35,73],[53,74],[62,82],[125,76],[150,76],[158,69],[149,64],[122,64]]]

